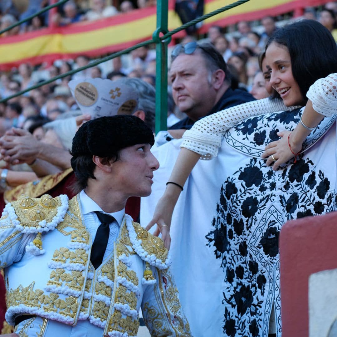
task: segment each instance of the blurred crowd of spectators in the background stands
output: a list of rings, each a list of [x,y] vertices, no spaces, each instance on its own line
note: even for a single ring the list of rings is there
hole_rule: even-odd
[[[48,5],[48,1],[27,1],[24,5],[25,1],[1,1],[0,29],[28,17]],[[70,0],[60,6],[53,16],[35,17],[30,22],[2,34],[0,39],[6,35],[25,34],[28,31],[41,29],[48,25],[50,19],[54,24],[64,26],[80,21],[93,21],[120,15],[120,13],[154,5],[155,0],[124,0],[118,4],[104,0]],[[337,2],[328,2],[325,6],[305,8],[303,17],[319,21],[331,31],[337,40],[336,13]],[[279,26],[292,20],[295,20],[292,18],[292,13],[288,13],[277,18],[265,17],[254,22],[240,21],[229,27],[212,26],[206,35],[186,35],[180,42],[187,43],[194,40],[211,42],[229,66],[233,76],[232,87],[247,90],[259,99],[269,96],[265,85],[268,73],[261,71],[262,59],[259,59],[259,55],[263,52],[268,37]],[[169,55],[173,47],[169,46]],[[62,118],[64,113],[70,112],[71,114],[78,110],[68,88],[68,82],[71,79],[91,77],[116,80],[127,76],[139,78],[155,86],[156,53],[154,48],[155,46],[136,49],[128,55],[88,68],[72,77],[67,76],[31,90],[20,97],[0,103],[0,136],[11,127],[20,127],[33,133],[37,139],[42,139],[45,133],[42,127],[44,123]],[[30,64],[21,64],[18,68],[0,73],[0,97],[6,98],[41,81],[85,66],[91,61],[87,56],[82,55],[75,59],[56,60],[52,65],[40,64],[32,67]],[[183,117],[174,105],[170,95],[171,90],[169,85],[168,127]]]

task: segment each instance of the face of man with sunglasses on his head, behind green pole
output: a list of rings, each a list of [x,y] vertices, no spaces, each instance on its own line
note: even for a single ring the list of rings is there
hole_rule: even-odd
[[[169,78],[180,111],[196,121],[213,108],[216,91],[209,82],[210,71],[200,54],[180,54],[172,62]]]

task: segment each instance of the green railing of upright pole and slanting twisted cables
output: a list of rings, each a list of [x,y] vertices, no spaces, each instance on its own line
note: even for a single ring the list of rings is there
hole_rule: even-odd
[[[35,13],[34,15],[21,20],[9,27],[7,27],[6,29],[3,29],[0,31],[0,34],[21,25],[22,23],[31,20],[33,17],[40,15],[41,13],[59,6],[65,2],[67,2],[68,0],[61,0],[53,5],[50,5],[48,7],[43,8],[42,10],[40,10],[39,12]],[[156,43],[156,133],[160,130],[166,130],[167,128],[167,124],[166,124],[166,118],[167,118],[167,45],[168,43],[170,43],[171,41],[171,36],[180,32],[181,30],[186,29],[189,26],[195,25],[198,22],[204,21],[205,19],[208,19],[216,14],[219,14],[223,11],[226,11],[228,9],[234,8],[236,6],[239,6],[245,2],[248,2],[249,0],[238,0],[232,4],[229,4],[227,6],[221,7],[219,9],[216,9],[210,13],[204,14],[203,16],[194,19],[190,22],[185,23],[184,25],[173,29],[172,31],[168,31],[167,29],[167,21],[168,21],[168,17],[167,17],[167,13],[168,13],[168,1],[167,0],[157,0],[157,29],[154,31],[153,35],[152,35],[152,39],[151,40],[147,40],[141,43],[138,43],[136,45],[134,45],[133,47],[124,49],[120,52],[117,53],[113,53],[110,54],[106,57],[100,58],[94,62],[91,62],[90,64],[80,67],[78,69],[75,70],[70,70],[64,74],[55,76],[54,78],[50,79],[50,80],[46,80],[43,82],[40,82],[34,86],[31,86],[25,90],[21,90],[20,92],[13,94],[11,96],[8,96],[2,100],[0,100],[0,103],[6,102],[7,100],[20,96],[30,90],[39,88],[43,85],[49,84],[51,82],[54,82],[55,80],[61,79],[63,77],[69,76],[69,75],[73,75],[76,72],[85,70],[87,68],[91,68],[94,66],[97,66],[100,63],[112,60],[115,57],[121,56],[123,54],[128,54],[131,51],[143,47],[145,45],[148,44],[152,44],[152,43]]]

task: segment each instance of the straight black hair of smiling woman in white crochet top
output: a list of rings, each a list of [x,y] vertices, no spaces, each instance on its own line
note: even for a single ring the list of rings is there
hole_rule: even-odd
[[[271,43],[287,47],[292,72],[305,101],[309,87],[318,79],[337,72],[337,45],[327,28],[314,20],[301,20],[276,30]]]

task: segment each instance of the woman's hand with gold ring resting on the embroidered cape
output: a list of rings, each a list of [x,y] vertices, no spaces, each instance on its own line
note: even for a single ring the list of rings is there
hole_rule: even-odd
[[[292,151],[290,151],[288,145],[288,136],[292,133],[290,131],[280,131],[277,132],[277,135],[281,137],[280,140],[269,143],[265,152],[262,154],[261,158],[268,158],[266,165],[269,166],[273,164],[273,170],[276,171],[277,168],[287,162],[289,159],[293,158],[294,153],[299,153],[302,149],[302,143],[295,143],[292,140],[292,136],[289,137],[289,143]]]

